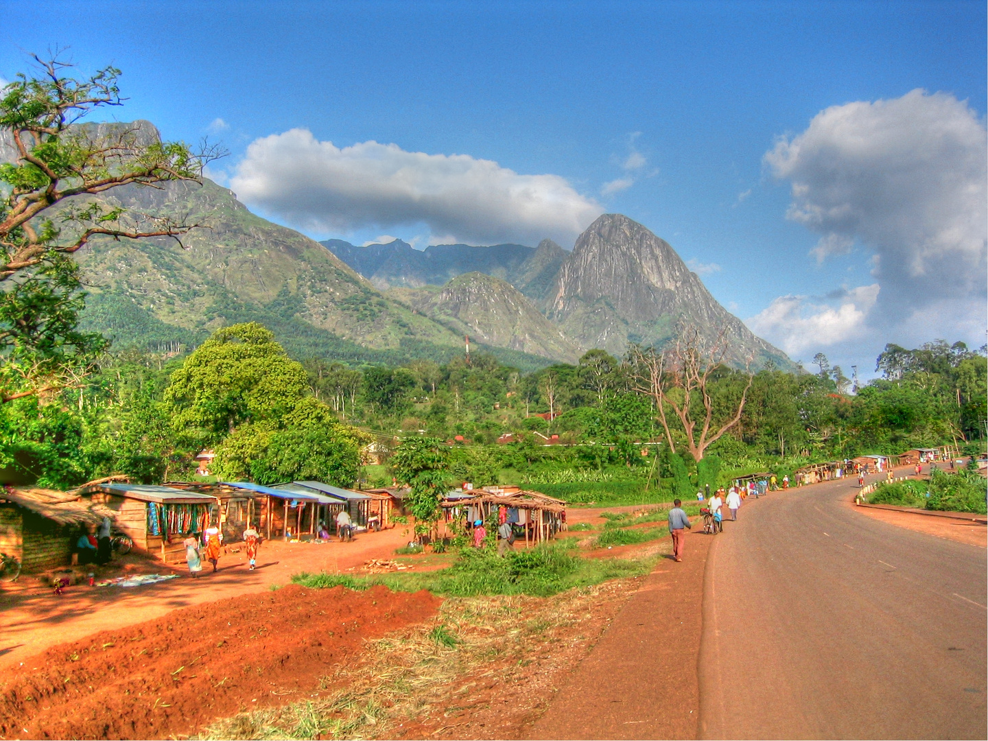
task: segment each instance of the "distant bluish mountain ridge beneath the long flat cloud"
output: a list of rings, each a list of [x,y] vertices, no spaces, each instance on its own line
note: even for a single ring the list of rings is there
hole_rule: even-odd
[[[508,280],[535,253],[521,244],[434,244],[424,250],[413,249],[400,239],[366,247],[342,239],[320,244],[381,290],[444,286],[456,276],[472,272]]]

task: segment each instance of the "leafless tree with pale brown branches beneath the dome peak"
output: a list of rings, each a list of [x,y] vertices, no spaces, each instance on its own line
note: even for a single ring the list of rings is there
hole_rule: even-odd
[[[711,375],[723,366],[726,351],[723,333],[707,346],[695,328],[681,332],[676,343],[661,352],[638,346],[628,350],[626,362],[630,367],[632,388],[651,397],[672,453],[676,453],[676,441],[670,416],[678,420],[686,436],[686,447],[695,460],[701,460],[706,449],[740,421],[748,389],[755,377],[750,371],[751,358],[745,366],[748,382],[737,406],[731,405],[731,416],[719,424],[713,420]],[[667,414],[667,410],[672,414]]]

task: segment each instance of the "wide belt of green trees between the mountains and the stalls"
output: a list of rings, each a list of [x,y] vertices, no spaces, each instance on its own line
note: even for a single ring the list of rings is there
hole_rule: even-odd
[[[348,366],[292,359],[262,325],[239,324],[184,356],[105,353],[75,387],[0,405],[0,461],[9,482],[65,488],[112,473],[195,478],[197,453],[212,450],[220,479],[381,486],[418,470],[395,452],[431,441],[442,485],[537,484],[614,502],[665,497],[677,477],[692,487],[863,453],[985,449],[985,354],[962,343],[889,345],[881,376],[857,389],[819,356],[816,372],[708,364],[690,414],[705,393],[717,430],[744,403],[699,456],[671,411],[683,388],[663,401],[667,432],[632,356],[595,350],[530,373],[484,354]],[[369,450],[383,462],[367,464]]]

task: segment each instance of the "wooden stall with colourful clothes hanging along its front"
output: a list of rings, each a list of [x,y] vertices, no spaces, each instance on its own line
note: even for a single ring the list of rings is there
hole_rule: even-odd
[[[166,563],[185,560],[182,541],[209,526],[215,497],[170,486],[105,483],[83,487],[80,494],[115,513],[117,527],[138,550]]]

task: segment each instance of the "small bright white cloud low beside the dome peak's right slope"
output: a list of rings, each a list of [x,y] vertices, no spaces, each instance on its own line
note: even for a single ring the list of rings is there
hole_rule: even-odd
[[[745,323],[789,355],[856,340],[878,298],[878,284],[843,290],[823,299],[784,295]],[[830,301],[829,303],[827,301]]]

